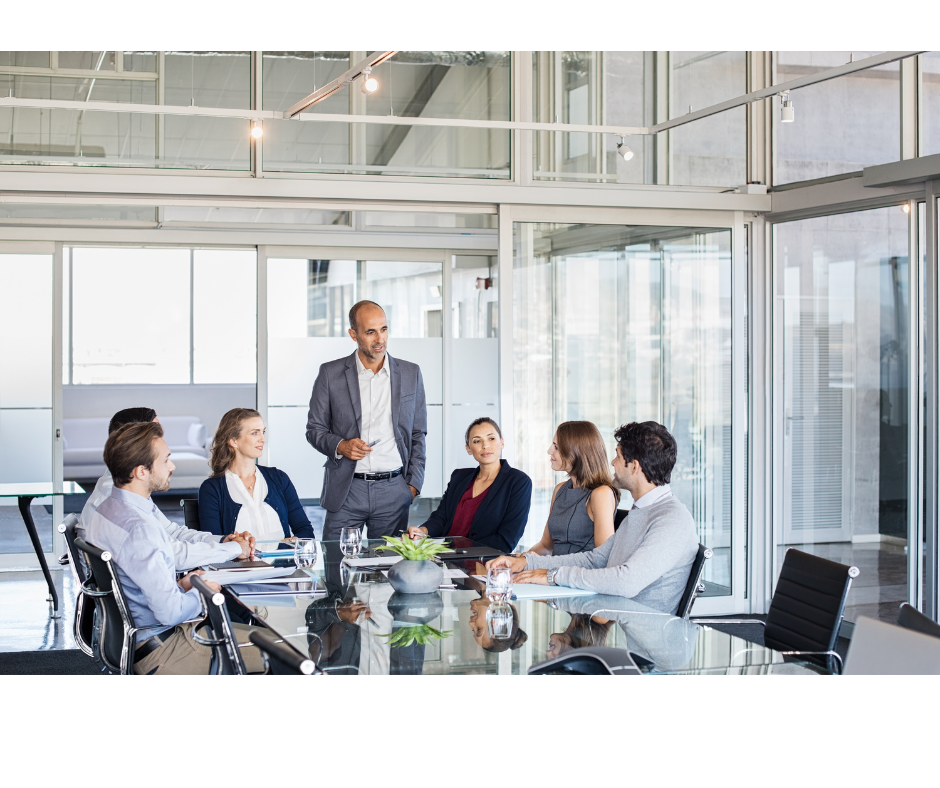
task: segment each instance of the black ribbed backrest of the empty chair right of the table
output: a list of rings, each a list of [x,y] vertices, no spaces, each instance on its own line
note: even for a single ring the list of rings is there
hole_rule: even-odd
[[[832,651],[854,566],[790,549],[767,611],[764,645],[777,651]]]

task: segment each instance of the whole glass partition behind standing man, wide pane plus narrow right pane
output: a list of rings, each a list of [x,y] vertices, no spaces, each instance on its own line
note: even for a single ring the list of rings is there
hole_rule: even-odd
[[[351,357],[350,307],[385,310],[388,352],[421,367],[427,464],[412,516],[421,522],[454,468],[471,466],[467,425],[499,418],[499,300],[495,257],[449,250],[263,248],[265,353],[259,405],[268,423],[264,462],[285,470],[302,499],[320,498],[326,458],[306,440],[320,366]]]

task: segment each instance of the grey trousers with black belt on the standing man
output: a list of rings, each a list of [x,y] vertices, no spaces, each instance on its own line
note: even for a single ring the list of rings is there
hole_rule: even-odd
[[[364,538],[394,536],[408,527],[411,500],[411,488],[403,474],[374,482],[353,479],[342,508],[338,512],[326,513],[323,538],[337,541],[345,526],[363,524],[368,528],[368,535],[363,534]]]

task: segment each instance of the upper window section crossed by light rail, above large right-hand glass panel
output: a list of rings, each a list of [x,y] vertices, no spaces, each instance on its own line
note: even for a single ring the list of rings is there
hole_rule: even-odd
[[[537,51],[532,112],[541,123],[652,126],[746,92],[744,50]],[[534,134],[541,180],[733,186],[745,180],[744,108],[657,137]]]

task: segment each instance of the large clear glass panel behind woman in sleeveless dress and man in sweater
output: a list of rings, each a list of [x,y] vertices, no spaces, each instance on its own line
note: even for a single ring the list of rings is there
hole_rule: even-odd
[[[534,482],[523,544],[541,536],[563,421],[614,430],[653,420],[675,436],[672,490],[715,550],[731,593],[731,230],[518,223],[514,228],[516,462]],[[622,507],[629,507],[624,493]]]

